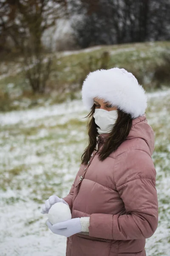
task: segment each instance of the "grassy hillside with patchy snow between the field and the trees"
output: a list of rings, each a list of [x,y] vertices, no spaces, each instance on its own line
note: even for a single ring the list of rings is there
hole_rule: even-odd
[[[22,58],[1,62],[0,111],[35,108],[80,99],[79,90],[86,75],[99,68],[125,68],[136,76],[147,91],[169,86],[169,66],[162,59],[162,54],[167,55],[168,52],[170,42],[98,46],[52,53],[52,72],[45,95],[32,94],[28,80],[23,76]],[[165,74],[162,69],[166,71]],[[159,74],[155,78],[156,70]]]

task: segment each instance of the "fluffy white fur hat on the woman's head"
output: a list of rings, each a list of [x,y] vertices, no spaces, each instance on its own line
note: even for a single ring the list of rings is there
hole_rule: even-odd
[[[132,118],[142,116],[147,108],[145,91],[132,73],[123,68],[90,72],[82,85],[82,101],[90,111],[94,98],[104,99]]]

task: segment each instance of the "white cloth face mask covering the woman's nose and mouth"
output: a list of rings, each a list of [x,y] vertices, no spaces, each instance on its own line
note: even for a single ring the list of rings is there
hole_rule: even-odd
[[[93,114],[97,131],[99,134],[110,133],[113,129],[113,125],[116,123],[118,117],[118,111],[107,111],[105,109],[96,108]]]

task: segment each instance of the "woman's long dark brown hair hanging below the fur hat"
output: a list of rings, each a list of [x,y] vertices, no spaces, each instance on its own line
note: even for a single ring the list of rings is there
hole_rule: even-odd
[[[88,114],[88,116],[84,117],[88,117],[87,128],[89,139],[88,146],[85,148],[85,151],[81,157],[82,164],[88,163],[88,160],[91,157],[91,153],[94,151],[96,146],[96,136],[98,135],[98,132],[96,129],[97,125],[93,117],[94,111],[95,104],[92,106],[91,112]],[[99,160],[105,160],[105,158],[108,157],[112,152],[116,151],[119,145],[126,139],[132,127],[132,120],[133,119],[130,114],[127,114],[118,109],[118,118],[115,125],[113,126],[113,130],[106,138],[102,150],[99,151]]]

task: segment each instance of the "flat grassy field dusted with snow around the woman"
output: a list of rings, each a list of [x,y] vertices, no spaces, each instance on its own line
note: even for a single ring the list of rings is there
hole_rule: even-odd
[[[170,90],[148,94],[156,135],[159,227],[147,256],[170,256]],[[43,202],[68,194],[87,145],[82,102],[0,114],[0,256],[65,256],[66,238],[51,233]]]

